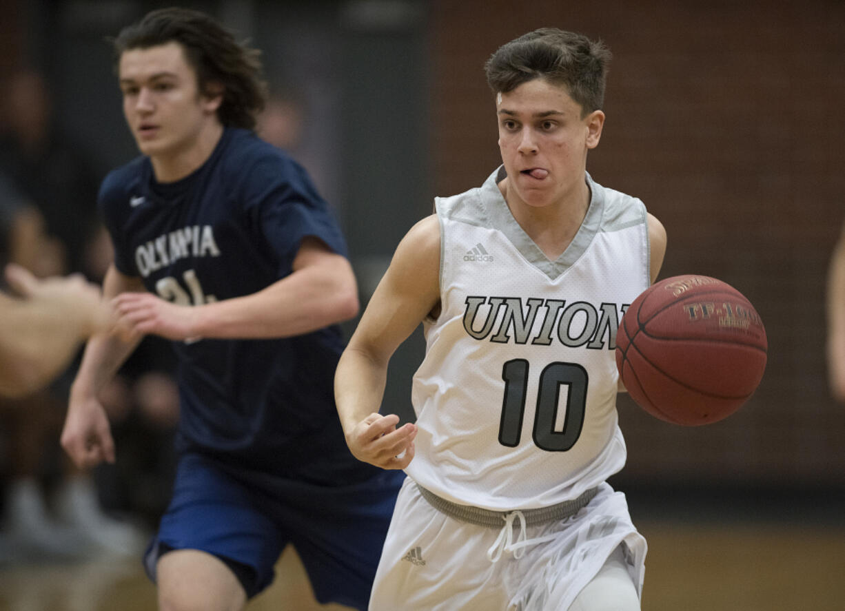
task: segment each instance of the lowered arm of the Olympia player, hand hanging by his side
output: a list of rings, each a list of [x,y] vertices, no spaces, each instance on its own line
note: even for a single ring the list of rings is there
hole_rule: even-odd
[[[104,297],[144,291],[139,278],[123,275],[114,264],[103,280]],[[114,461],[114,441],[106,411],[97,398],[117,369],[138,346],[137,334],[99,333],[85,346],[85,354],[71,386],[62,447],[77,466]]]

